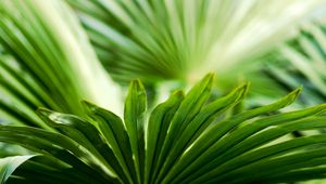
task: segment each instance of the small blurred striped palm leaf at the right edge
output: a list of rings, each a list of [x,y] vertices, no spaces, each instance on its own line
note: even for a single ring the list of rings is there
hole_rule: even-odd
[[[301,104],[325,102],[326,27],[324,21],[302,25],[298,36],[265,57],[266,74],[284,91],[303,86]]]

